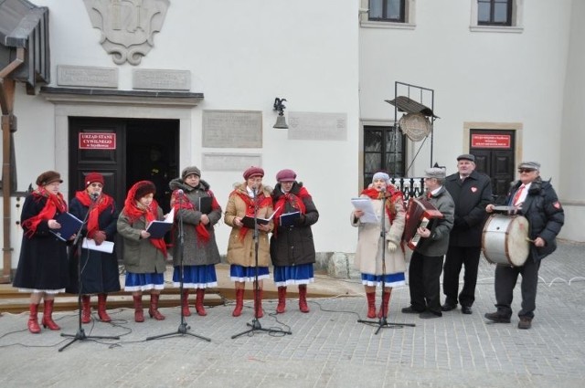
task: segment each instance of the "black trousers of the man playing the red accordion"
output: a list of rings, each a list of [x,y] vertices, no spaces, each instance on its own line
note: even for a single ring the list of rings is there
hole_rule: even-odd
[[[409,267],[410,305],[441,315],[442,256],[423,256],[412,252]]]

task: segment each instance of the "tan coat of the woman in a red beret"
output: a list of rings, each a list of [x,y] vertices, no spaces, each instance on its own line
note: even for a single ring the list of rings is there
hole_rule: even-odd
[[[246,184],[239,184],[235,189],[239,193],[248,194],[246,191]],[[266,186],[261,186],[259,192],[263,193],[266,197],[271,198],[271,190]],[[231,233],[229,234],[228,243],[228,263],[236,264],[243,267],[254,267],[255,266],[255,250],[254,250],[254,231],[248,229],[246,236],[243,240],[239,236],[240,228],[234,225],[234,218],[243,218],[246,215],[246,203],[239,197],[238,194],[230,194],[228,205],[226,206],[226,214],[224,215],[224,222],[231,226]],[[257,216],[260,218],[268,218],[272,215],[272,200],[271,204],[267,207],[258,209]],[[273,224],[270,222],[270,229],[272,230]],[[268,267],[270,264],[270,252],[268,247],[268,233],[259,230],[258,235],[258,265],[259,267]]]

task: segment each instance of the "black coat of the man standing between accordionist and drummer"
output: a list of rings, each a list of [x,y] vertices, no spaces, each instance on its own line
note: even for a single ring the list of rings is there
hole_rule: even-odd
[[[453,173],[445,179],[445,188],[455,203],[449,246],[482,246],[485,206],[492,203],[490,178],[473,171],[461,182],[459,173]]]

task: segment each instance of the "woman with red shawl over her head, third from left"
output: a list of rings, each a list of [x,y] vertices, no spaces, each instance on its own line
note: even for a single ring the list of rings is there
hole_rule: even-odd
[[[125,291],[132,291],[134,320],[144,322],[143,291],[150,290],[148,314],[165,320],[158,311],[158,299],[165,288],[166,245],[164,238],[149,238],[146,226],[163,220],[163,209],[154,200],[156,187],[150,181],[133,184],[118,218],[118,233],[124,238]]]

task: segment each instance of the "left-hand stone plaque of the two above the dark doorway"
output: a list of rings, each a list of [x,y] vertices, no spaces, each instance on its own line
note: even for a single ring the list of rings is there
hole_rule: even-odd
[[[58,86],[118,88],[118,69],[58,65],[57,84]]]

